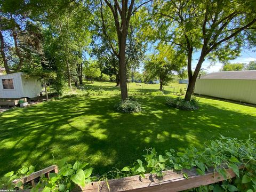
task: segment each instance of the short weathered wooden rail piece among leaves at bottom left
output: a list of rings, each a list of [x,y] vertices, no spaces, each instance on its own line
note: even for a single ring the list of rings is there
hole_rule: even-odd
[[[18,183],[19,181],[21,181],[22,183],[27,183],[29,181],[32,181],[32,180],[40,177],[43,174],[50,173],[51,171],[55,172],[55,170],[58,170],[58,166],[57,165],[52,165],[52,166],[49,166],[49,167],[47,167],[47,168],[45,168],[43,170],[31,173],[27,177],[23,177],[21,179],[16,179],[16,180],[13,181],[13,183]]]

